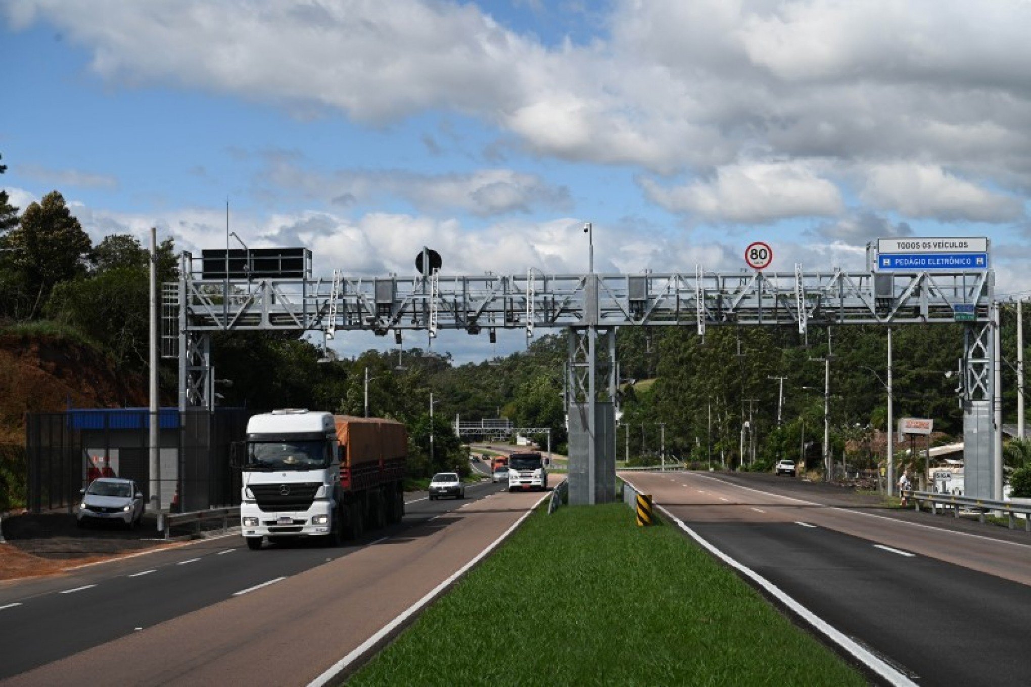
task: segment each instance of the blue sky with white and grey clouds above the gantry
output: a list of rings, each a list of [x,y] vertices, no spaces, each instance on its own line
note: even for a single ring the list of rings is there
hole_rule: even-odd
[[[444,275],[581,273],[586,222],[605,273],[987,236],[1022,297],[1029,35],[1029,0],[3,0],[0,188],[194,254],[225,248],[228,202],[315,276],[411,275],[424,246]]]

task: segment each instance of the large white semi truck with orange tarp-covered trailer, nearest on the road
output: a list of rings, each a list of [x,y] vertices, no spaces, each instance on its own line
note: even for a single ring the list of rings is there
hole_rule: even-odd
[[[286,408],[247,422],[240,524],[247,547],[297,536],[339,545],[404,515],[400,422]]]

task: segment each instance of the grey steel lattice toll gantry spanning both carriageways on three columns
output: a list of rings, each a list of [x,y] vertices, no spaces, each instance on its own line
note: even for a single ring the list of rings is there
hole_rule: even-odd
[[[430,264],[430,263],[427,263]],[[164,286],[166,355],[179,361],[179,406],[211,407],[210,334],[230,330],[310,330],[378,335],[441,329],[569,330],[566,403],[570,432],[570,500],[614,498],[616,339],[619,327],[723,325],[965,324],[962,358],[967,493],[1001,497],[1001,419],[992,270],[706,271],[645,274],[442,275],[313,279],[203,279],[184,254],[181,279]],[[245,279],[244,279],[245,275]],[[599,342],[599,337],[601,341]],[[607,355],[606,355],[607,352]]]

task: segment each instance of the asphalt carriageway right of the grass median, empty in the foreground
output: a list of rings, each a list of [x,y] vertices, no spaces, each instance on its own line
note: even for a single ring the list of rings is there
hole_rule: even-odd
[[[872,508],[788,478],[626,477],[914,683],[1027,684],[1025,532]]]

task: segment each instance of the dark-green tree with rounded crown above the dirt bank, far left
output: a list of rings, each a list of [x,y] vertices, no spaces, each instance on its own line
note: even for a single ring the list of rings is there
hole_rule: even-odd
[[[7,262],[15,280],[6,286],[27,305],[20,314],[32,320],[58,282],[86,273],[92,243],[64,196],[52,191],[25,208],[21,225],[3,237],[3,248],[10,251]]]

